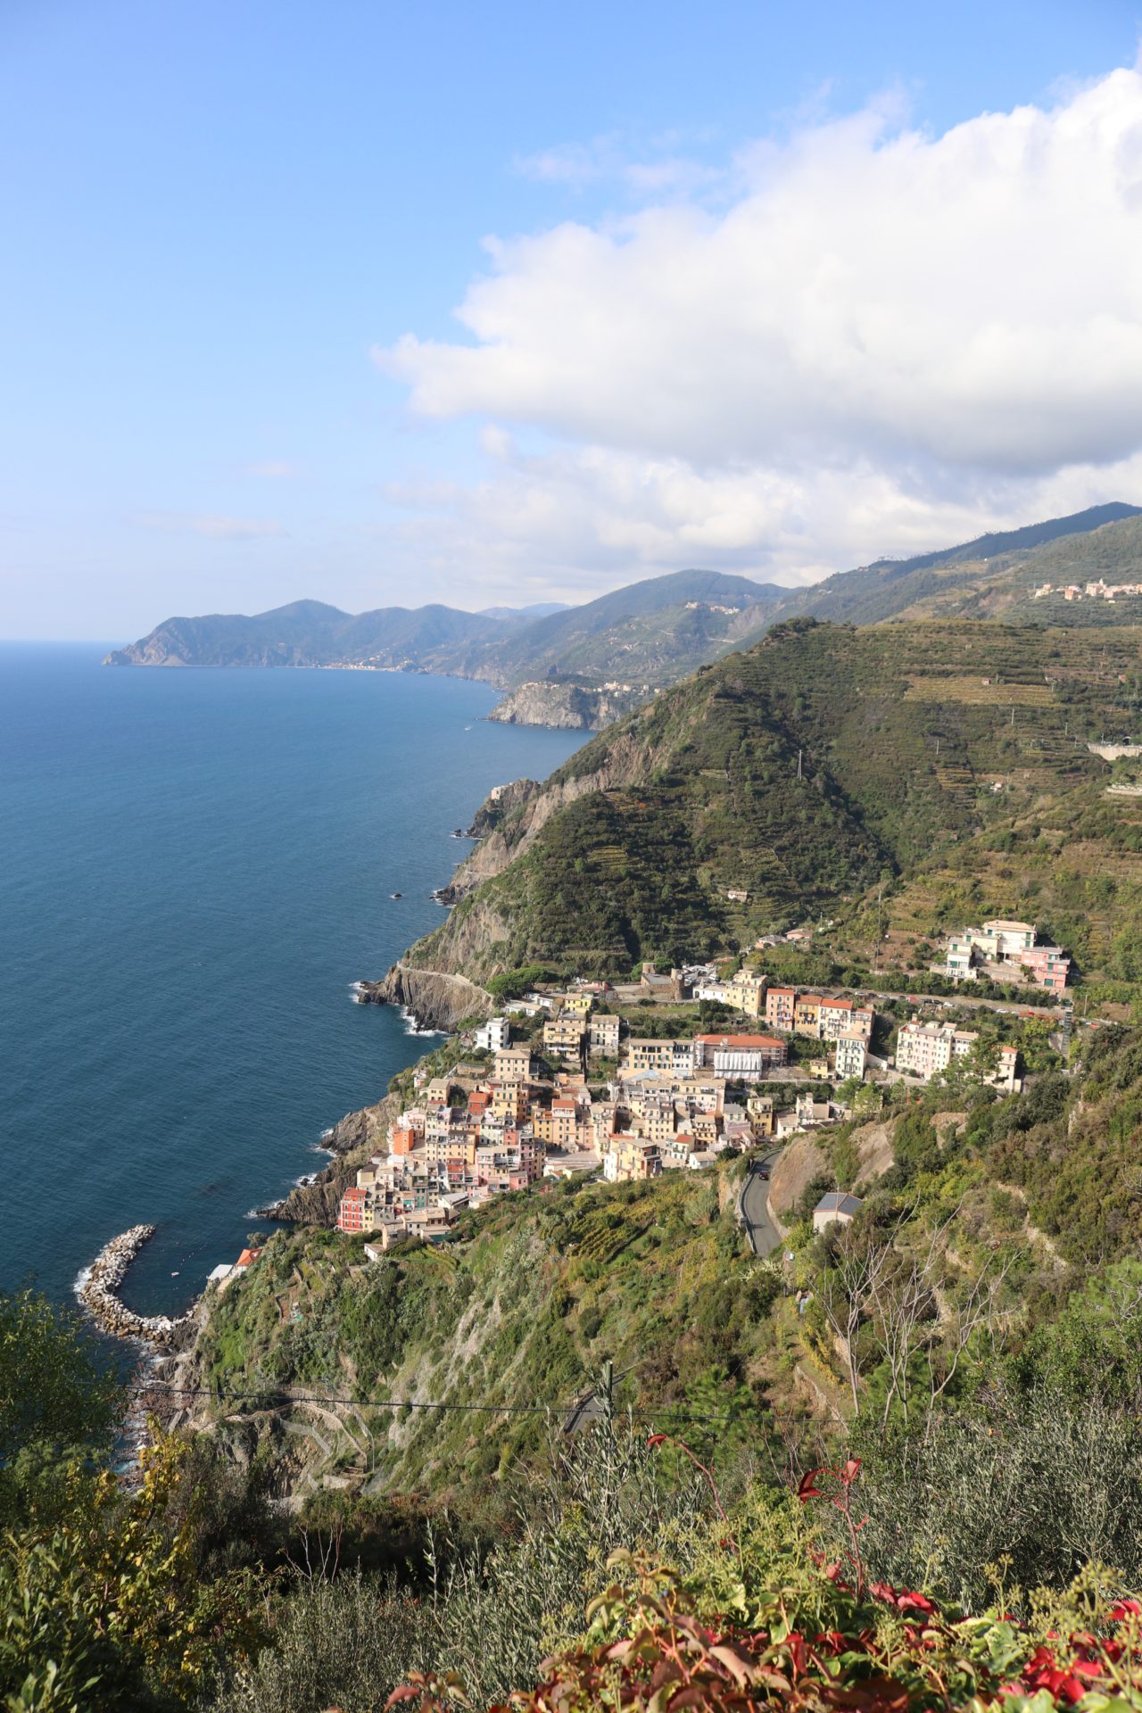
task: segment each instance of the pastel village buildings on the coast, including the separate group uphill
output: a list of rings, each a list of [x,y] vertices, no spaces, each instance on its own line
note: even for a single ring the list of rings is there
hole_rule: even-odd
[[[1058,999],[1070,963],[1036,946],[1031,923],[991,920],[950,935],[935,968],[957,985],[1003,975]],[[901,1021],[875,995],[779,985],[748,964],[645,963],[630,983],[536,987],[450,1045],[447,1069],[440,1053],[413,1069],[385,1146],[341,1197],[337,1228],[365,1235],[370,1256],[443,1238],[467,1209],[544,1180],[645,1180],[728,1149],[777,1149],[878,1110],[894,1083],[1022,1086],[1017,1043],[983,1043],[919,1009]]]

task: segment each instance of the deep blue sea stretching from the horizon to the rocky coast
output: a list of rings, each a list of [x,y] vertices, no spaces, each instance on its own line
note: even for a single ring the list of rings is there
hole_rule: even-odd
[[[440,923],[488,790],[582,733],[454,678],[103,653],[0,644],[0,1288],[70,1298],[147,1221],[123,1295],[180,1312],[426,1050],[351,983]]]

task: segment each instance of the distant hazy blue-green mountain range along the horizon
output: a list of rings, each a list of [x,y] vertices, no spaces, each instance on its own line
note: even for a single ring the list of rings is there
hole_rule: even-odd
[[[630,706],[632,699],[748,646],[770,625],[805,613],[859,625],[923,617],[1089,625],[1132,617],[1121,605],[1063,603],[1063,584],[1094,577],[1142,579],[1139,507],[1096,505],[938,553],[878,560],[796,589],[716,570],[678,570],[580,606],[548,601],[483,613],[442,605],[384,606],[351,615],[320,601],[293,601],[252,617],[168,618],[108,661],[459,673],[507,690],[536,687],[526,697],[532,718],[543,713],[544,695],[563,711],[567,685],[608,687],[608,706]],[[1034,600],[1032,591],[1044,582],[1058,586],[1058,593]],[[1142,600],[1137,610],[1142,617]],[[615,695],[627,702],[616,702]],[[565,713],[560,719],[565,723]]]

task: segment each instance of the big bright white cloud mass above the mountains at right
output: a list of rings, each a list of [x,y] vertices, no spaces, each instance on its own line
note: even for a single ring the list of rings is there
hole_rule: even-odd
[[[938,137],[894,99],[806,123],[740,151],[717,204],[685,164],[627,168],[635,212],[490,240],[467,339],[377,353],[414,413],[491,425],[485,483],[401,493],[442,553],[461,528],[568,574],[801,577],[1142,495],[1139,70]]]

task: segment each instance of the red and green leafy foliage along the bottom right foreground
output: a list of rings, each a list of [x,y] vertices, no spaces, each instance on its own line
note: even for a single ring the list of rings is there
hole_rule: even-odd
[[[849,1459],[800,1483],[803,1504],[825,1502],[842,1518],[848,1545],[829,1562],[798,1528],[789,1501],[723,1518],[726,1533],[688,1578],[645,1554],[615,1554],[608,1569],[616,1579],[591,1602],[586,1636],[544,1660],[536,1687],[515,1691],[507,1706],[517,1713],[1142,1706],[1142,1603],[1118,1595],[1096,1566],[1062,1598],[1034,1595],[1029,1624],[1002,1605],[967,1617],[925,1593],[870,1581],[854,1506],[859,1468]],[[414,1674],[387,1703],[416,1713],[473,1704],[483,1703],[471,1701],[455,1674]]]

